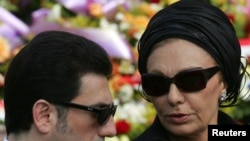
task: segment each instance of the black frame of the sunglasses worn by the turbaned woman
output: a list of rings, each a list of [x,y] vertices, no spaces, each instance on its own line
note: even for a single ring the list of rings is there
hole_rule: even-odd
[[[188,73],[192,73],[192,72],[198,72],[199,74],[202,75],[202,78],[204,79],[204,87],[201,87],[201,89],[197,89],[197,90],[185,90],[185,87],[184,89],[182,89],[183,91],[185,92],[194,92],[194,91],[198,91],[198,90],[202,90],[202,89],[205,89],[206,88],[206,85],[207,85],[207,82],[212,78],[212,76],[214,76],[218,71],[220,71],[220,67],[219,66],[214,66],[214,67],[210,67],[210,68],[193,68],[193,69],[189,69],[189,70],[185,70],[185,71],[181,71],[179,73],[177,73],[174,77],[172,78],[169,78],[167,76],[164,76],[162,74],[153,74],[153,73],[144,73],[142,74],[141,76],[141,79],[142,79],[142,89],[143,89],[143,92],[141,93],[141,96],[150,101],[149,100],[149,97],[148,96],[161,96],[161,95],[164,95],[165,93],[167,92],[163,92],[162,94],[156,94],[156,95],[150,95],[150,94],[147,94],[146,91],[145,91],[145,88],[143,86],[143,79],[145,79],[145,77],[150,77],[150,76],[159,76],[161,78],[164,79],[165,82],[168,82],[169,83],[169,86],[171,83],[174,83],[179,89],[182,89],[183,88],[183,84],[181,83],[181,79],[179,77],[181,77],[183,74],[188,74]],[[169,88],[168,88],[169,90]]]

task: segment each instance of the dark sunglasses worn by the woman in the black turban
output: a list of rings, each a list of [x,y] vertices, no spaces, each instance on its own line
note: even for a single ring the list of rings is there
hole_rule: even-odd
[[[206,88],[207,81],[219,70],[219,66],[207,69],[194,68],[179,72],[173,78],[146,73],[142,75],[142,88],[149,96],[161,96],[168,93],[171,83],[184,92],[195,92]]]

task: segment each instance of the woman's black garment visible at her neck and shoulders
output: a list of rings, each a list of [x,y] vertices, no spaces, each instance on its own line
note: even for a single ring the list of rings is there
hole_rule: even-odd
[[[218,114],[218,124],[238,124],[234,119],[232,119],[227,114],[219,111]],[[138,136],[134,141],[168,141],[169,137],[166,129],[161,125],[158,117],[155,118],[153,124],[146,129],[140,136]]]

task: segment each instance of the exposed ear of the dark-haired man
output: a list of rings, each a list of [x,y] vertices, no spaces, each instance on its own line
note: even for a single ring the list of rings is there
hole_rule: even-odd
[[[56,124],[56,109],[43,99],[37,100],[33,105],[34,126],[42,134],[48,133]]]

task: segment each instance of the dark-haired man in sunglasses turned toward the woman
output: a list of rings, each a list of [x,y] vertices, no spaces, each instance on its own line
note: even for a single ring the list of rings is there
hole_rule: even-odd
[[[109,56],[84,37],[38,34],[5,78],[8,141],[103,141],[116,134]]]

